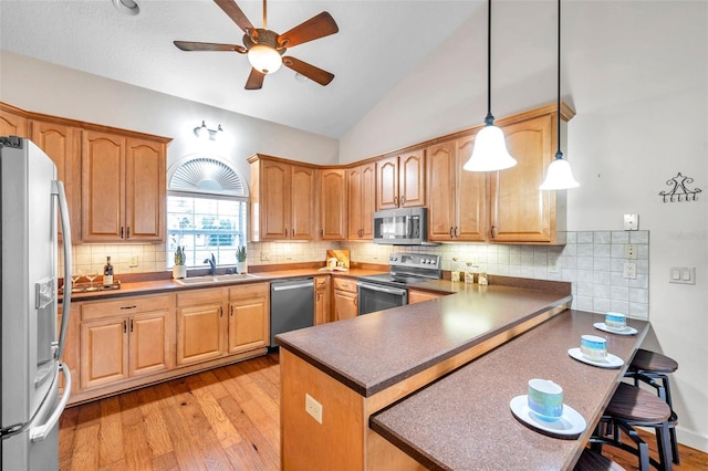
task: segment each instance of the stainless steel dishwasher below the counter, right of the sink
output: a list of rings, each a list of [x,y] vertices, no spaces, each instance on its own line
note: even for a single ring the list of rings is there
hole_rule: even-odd
[[[277,281],[270,284],[270,346],[275,335],[314,325],[314,279]]]

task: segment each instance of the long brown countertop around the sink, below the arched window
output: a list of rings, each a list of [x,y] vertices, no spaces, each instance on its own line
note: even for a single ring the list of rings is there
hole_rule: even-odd
[[[106,300],[106,299],[115,299],[122,296],[135,296],[142,294],[157,294],[157,293],[167,293],[167,292],[177,292],[177,291],[188,291],[188,290],[205,290],[210,287],[223,287],[223,286],[235,286],[239,284],[249,284],[249,283],[263,283],[271,282],[281,279],[288,278],[299,278],[299,276],[317,276],[317,275],[336,275],[336,276],[345,276],[345,278],[358,278],[369,274],[379,274],[384,273],[381,270],[362,270],[362,269],[352,269],[346,272],[330,272],[330,271],[320,271],[319,269],[296,269],[296,270],[278,270],[278,271],[263,271],[258,273],[251,273],[256,275],[256,278],[249,278],[244,280],[233,280],[231,282],[223,283],[204,283],[204,284],[192,284],[192,285],[183,285],[177,283],[174,280],[154,280],[154,281],[139,281],[133,283],[121,283],[119,290],[105,290],[105,291],[92,291],[92,292],[82,292],[82,293],[72,293],[72,301],[95,301],[95,300]],[[61,297],[61,296],[60,296]]]

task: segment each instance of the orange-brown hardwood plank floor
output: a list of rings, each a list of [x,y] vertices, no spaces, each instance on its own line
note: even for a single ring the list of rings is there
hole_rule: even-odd
[[[60,421],[60,470],[278,470],[279,404],[270,354],[72,407]],[[631,454],[604,454],[637,469]],[[706,453],[680,447],[680,459],[676,470],[708,470]]]

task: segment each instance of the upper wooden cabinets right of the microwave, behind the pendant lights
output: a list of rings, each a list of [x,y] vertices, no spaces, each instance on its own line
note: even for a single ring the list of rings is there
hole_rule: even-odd
[[[562,106],[565,126],[573,112]],[[565,192],[539,189],[555,155],[555,106],[500,119],[498,125],[516,167],[464,170],[476,130],[428,147],[428,240],[562,243],[558,233],[565,230]]]

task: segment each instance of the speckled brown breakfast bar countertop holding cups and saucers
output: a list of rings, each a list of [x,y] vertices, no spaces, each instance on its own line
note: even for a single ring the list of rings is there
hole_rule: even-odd
[[[568,310],[372,416],[371,427],[429,469],[570,469],[649,326],[627,320],[638,334],[622,336],[593,327],[603,321],[601,314]],[[608,353],[624,365],[598,368],[570,357],[583,334],[607,338]],[[563,387],[564,404],[589,422],[579,438],[551,438],[512,416],[509,402],[527,394],[531,378]]]

